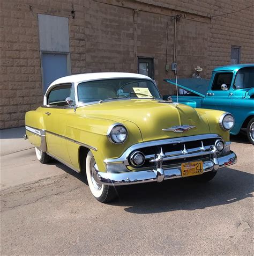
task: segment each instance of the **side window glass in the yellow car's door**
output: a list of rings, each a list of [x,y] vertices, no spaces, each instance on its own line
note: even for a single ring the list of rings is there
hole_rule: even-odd
[[[71,97],[71,92],[71,84],[58,85],[54,87],[48,94],[48,105],[68,106],[68,104],[65,102],[65,99],[67,97]]]

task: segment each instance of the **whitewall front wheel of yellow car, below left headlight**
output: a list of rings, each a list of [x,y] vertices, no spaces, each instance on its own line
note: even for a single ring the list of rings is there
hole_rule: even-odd
[[[93,153],[89,151],[86,157],[86,177],[88,186],[93,196],[102,203],[107,203],[116,198],[114,186],[103,185],[99,182],[96,176],[97,165]]]

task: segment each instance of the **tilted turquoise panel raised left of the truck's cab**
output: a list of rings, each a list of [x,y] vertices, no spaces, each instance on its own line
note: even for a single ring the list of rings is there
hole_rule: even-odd
[[[176,79],[164,79],[169,84],[176,85]],[[210,84],[209,79],[203,78],[178,78],[177,86],[197,94],[198,96],[205,97]]]

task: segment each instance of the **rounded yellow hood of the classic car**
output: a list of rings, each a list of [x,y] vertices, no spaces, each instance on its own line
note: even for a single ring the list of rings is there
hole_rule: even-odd
[[[140,129],[143,141],[210,133],[206,118],[199,116],[194,108],[162,100],[104,101],[100,104],[79,107],[77,114],[120,123],[133,122]],[[194,127],[182,133],[162,130],[181,125]],[[131,134],[131,130],[129,134]]]

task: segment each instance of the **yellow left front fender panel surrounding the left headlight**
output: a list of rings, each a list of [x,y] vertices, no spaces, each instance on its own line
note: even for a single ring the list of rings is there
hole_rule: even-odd
[[[122,144],[111,143],[106,136],[108,128],[116,122],[122,123],[128,130],[128,138]],[[143,142],[140,130],[135,123],[126,120],[116,121],[90,116],[78,116],[78,118],[68,120],[66,137],[91,147],[90,149],[100,172],[106,171],[106,166],[103,163],[104,159],[117,158],[131,145]],[[79,170],[80,163],[77,152],[80,145],[68,141],[67,147],[73,166]]]

